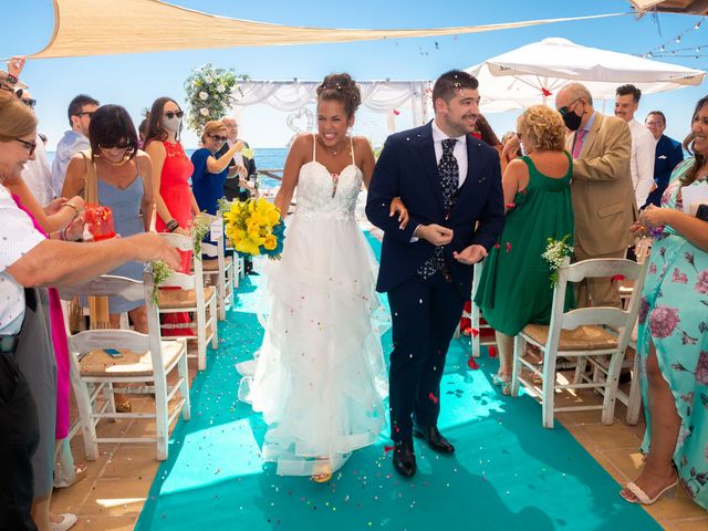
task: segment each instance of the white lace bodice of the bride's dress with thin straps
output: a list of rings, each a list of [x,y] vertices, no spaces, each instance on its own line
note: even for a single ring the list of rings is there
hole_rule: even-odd
[[[313,143],[316,139],[313,137]],[[324,165],[315,160],[313,146],[312,160],[300,168],[298,177],[298,217],[354,218],[356,197],[362,188],[362,170],[352,164],[346,166],[336,180]],[[335,186],[336,181],[336,186]]]

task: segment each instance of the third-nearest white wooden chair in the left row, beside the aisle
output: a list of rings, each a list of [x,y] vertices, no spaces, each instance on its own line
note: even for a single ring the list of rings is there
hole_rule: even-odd
[[[226,312],[233,305],[235,280],[238,283],[232,257],[223,251],[223,220],[214,217],[210,240],[215,243],[201,243],[201,268],[205,280],[209,279],[217,289],[219,321],[226,320]]]

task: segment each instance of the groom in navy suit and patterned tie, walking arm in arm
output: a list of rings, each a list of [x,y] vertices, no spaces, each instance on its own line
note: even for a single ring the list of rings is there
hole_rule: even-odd
[[[416,473],[414,435],[435,451],[455,451],[437,427],[445,356],[470,296],[472,264],[504,222],[499,155],[470,135],[477,86],[467,72],[442,74],[433,88],[435,119],[386,139],[368,187],[366,215],[384,231],[376,289],[388,293],[393,319],[394,468],[408,478]],[[389,216],[394,197],[408,209],[405,229]]]

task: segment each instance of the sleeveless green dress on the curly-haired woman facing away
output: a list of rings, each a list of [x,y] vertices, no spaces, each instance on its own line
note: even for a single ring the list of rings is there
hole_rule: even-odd
[[[560,179],[540,173],[529,157],[529,185],[517,192],[514,208],[507,211],[499,241],[485,260],[475,303],[489,325],[506,335],[517,335],[527,324],[548,324],[551,319],[553,289],[549,263],[541,257],[549,238],[570,235],[573,247],[573,206],[571,176]],[[568,290],[569,298],[572,291]],[[571,300],[566,300],[569,304]]]

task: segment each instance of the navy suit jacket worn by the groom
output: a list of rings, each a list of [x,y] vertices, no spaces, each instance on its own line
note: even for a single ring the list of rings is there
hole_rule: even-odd
[[[416,274],[435,247],[424,239],[412,242],[413,232],[418,225],[437,223],[454,231],[452,241],[445,246],[446,261],[455,287],[469,299],[472,268],[455,260],[452,251],[475,243],[489,250],[503,227],[504,204],[498,152],[467,135],[467,178],[447,216],[430,123],[386,139],[366,201],[366,216],[384,231],[377,291],[391,291]],[[388,216],[394,197],[400,197],[410,216],[403,230],[398,216]]]

